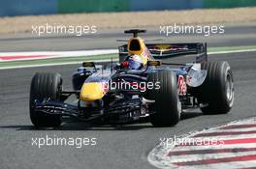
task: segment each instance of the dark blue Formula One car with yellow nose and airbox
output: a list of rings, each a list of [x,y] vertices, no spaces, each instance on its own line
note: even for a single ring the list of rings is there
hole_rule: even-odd
[[[30,118],[36,127],[59,127],[63,116],[85,122],[122,124],[147,117],[154,127],[175,126],[180,114],[200,108],[228,113],[234,102],[232,70],[227,62],[208,62],[206,43],[146,44],[133,34],[119,46],[119,62],[100,68],[84,62],[65,91],[59,73],[37,72],[30,88]],[[163,58],[196,55],[195,63],[165,63]],[[108,67],[109,65],[109,67]],[[170,68],[175,67],[175,68]],[[77,101],[68,103],[75,95]]]

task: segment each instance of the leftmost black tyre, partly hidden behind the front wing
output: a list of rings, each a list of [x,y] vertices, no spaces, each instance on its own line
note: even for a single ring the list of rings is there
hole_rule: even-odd
[[[30,119],[35,127],[59,127],[61,116],[48,115],[34,110],[35,100],[59,99],[58,91],[61,89],[62,79],[58,73],[37,72],[30,86]]]

